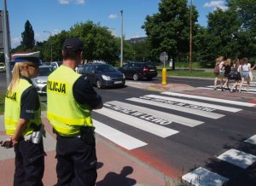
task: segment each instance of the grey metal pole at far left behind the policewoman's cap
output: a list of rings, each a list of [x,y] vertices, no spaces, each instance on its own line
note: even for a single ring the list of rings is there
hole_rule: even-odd
[[[10,59],[9,59],[9,21],[7,16],[7,6],[6,0],[3,0],[3,46],[4,46],[4,59],[6,67],[6,85],[9,86],[11,76],[10,76]]]

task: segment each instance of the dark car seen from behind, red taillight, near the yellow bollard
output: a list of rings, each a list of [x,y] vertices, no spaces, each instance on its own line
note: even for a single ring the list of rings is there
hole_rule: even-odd
[[[129,62],[119,67],[119,71],[125,74],[125,78],[133,78],[135,81],[140,78],[151,80],[157,76],[156,67],[147,62]]]

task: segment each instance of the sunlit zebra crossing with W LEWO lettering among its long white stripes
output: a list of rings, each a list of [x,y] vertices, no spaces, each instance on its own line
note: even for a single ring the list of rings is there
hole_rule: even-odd
[[[193,99],[193,100],[192,100]],[[229,105],[229,106],[224,106]],[[232,104],[232,105],[231,105]],[[241,107],[253,107],[256,104],[236,102],[204,96],[192,96],[173,92],[162,92],[161,95],[145,95],[127,98],[124,102],[111,101],[104,103],[102,109],[94,110],[104,119],[94,119],[96,133],[108,138],[113,143],[132,150],[148,145],[138,136],[125,134],[125,131],[115,129],[104,120],[113,120],[120,125],[150,133],[155,137],[171,137],[181,131],[173,125],[196,127],[203,125],[205,119],[222,119],[224,113],[237,113]],[[235,107],[233,107],[235,106]],[[131,146],[129,143],[134,142]]]

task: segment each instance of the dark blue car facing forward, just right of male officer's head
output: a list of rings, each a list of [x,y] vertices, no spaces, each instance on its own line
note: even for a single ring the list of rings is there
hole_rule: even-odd
[[[84,66],[82,74],[87,76],[91,84],[96,84],[98,89],[125,85],[124,74],[108,64],[88,63]]]

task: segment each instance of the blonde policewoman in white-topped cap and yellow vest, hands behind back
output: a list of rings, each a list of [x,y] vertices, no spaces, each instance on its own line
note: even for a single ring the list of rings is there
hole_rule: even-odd
[[[10,137],[2,146],[7,147],[9,143],[15,148],[15,186],[43,185],[44,127],[38,92],[31,81],[38,73],[39,52],[13,57],[15,67],[5,96],[4,112],[5,130]]]

